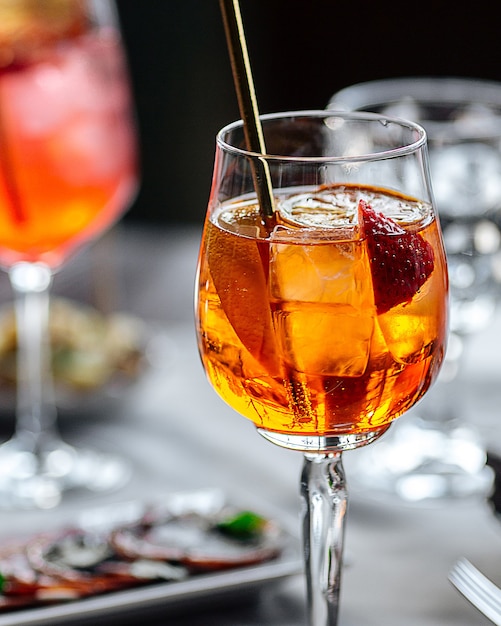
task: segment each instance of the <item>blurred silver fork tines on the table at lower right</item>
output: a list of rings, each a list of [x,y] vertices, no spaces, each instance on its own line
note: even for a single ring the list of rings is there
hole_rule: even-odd
[[[493,624],[501,626],[501,589],[465,558],[449,572],[449,580]]]

